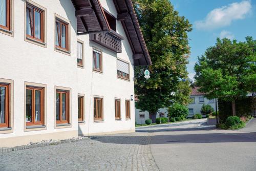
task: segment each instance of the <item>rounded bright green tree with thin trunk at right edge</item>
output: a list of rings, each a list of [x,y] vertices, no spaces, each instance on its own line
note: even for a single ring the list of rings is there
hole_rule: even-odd
[[[207,93],[209,99],[231,101],[232,114],[236,115],[236,100],[256,91],[255,62],[256,40],[252,37],[244,42],[218,38],[195,65],[199,91]]]

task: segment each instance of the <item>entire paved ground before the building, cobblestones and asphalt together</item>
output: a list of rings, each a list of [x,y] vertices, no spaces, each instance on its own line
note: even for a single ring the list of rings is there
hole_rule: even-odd
[[[215,130],[198,119],[138,127],[132,134],[0,153],[0,170],[256,170],[254,120],[248,125]]]

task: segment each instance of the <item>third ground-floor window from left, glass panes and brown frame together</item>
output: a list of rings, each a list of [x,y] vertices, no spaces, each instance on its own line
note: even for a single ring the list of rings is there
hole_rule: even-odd
[[[69,91],[56,90],[56,123],[69,123]]]

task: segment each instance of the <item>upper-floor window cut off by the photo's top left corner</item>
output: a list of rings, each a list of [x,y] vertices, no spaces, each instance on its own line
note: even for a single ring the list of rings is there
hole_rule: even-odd
[[[0,28],[10,30],[10,1],[0,1]]]

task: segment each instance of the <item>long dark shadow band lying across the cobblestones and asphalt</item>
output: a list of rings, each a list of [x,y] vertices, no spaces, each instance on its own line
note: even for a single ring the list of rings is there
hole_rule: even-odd
[[[96,141],[114,144],[146,144],[147,136],[97,136]],[[141,141],[144,139],[145,141]],[[174,143],[219,143],[219,142],[256,142],[255,133],[210,133],[210,134],[182,134],[182,135],[154,135],[151,144]]]

